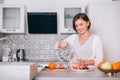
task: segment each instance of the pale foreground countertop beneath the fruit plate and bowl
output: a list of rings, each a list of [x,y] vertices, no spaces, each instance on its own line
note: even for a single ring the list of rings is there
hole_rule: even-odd
[[[41,71],[35,80],[120,80],[120,73],[116,76],[105,76],[97,68],[88,72],[68,71]]]

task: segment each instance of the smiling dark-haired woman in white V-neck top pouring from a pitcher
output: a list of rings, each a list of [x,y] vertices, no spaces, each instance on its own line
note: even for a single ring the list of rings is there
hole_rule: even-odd
[[[98,65],[103,60],[102,42],[98,35],[89,31],[90,25],[88,16],[85,13],[78,13],[73,18],[73,29],[77,34],[73,34],[56,44],[57,48],[69,46],[74,48],[76,57],[70,59],[70,65],[76,58],[77,65]]]

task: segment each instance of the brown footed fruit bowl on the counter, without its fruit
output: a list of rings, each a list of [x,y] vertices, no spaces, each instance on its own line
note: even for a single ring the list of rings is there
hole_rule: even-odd
[[[117,73],[120,72],[120,69],[98,69],[105,73],[106,76],[117,76]]]

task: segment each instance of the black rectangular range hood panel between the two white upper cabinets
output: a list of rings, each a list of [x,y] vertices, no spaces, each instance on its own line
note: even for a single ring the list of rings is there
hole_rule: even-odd
[[[56,12],[28,12],[28,33],[33,34],[56,34]]]

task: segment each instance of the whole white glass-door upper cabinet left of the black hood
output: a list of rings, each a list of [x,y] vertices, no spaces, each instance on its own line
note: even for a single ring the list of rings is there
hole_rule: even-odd
[[[24,5],[0,5],[0,33],[25,33]]]

